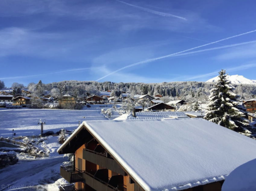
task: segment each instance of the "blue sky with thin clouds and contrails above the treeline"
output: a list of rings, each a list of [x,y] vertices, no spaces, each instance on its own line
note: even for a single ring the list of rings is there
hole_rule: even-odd
[[[255,6],[255,0],[2,0],[0,80],[7,86],[206,81],[220,69],[256,80],[256,32],[189,50],[256,30]],[[134,63],[140,64],[127,67]]]

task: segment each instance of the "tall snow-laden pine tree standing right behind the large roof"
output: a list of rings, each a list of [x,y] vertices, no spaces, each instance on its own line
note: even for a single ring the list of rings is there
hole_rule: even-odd
[[[245,132],[250,127],[249,121],[245,119],[246,110],[239,104],[239,96],[231,92],[232,90],[234,87],[227,80],[226,71],[221,70],[218,81],[211,89],[208,112],[204,118],[236,132]]]

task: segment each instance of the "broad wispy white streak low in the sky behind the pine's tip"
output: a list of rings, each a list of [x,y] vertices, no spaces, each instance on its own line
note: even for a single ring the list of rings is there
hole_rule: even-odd
[[[240,65],[240,66],[236,66],[236,67],[226,68],[226,70],[227,70],[227,72],[236,72],[236,71],[241,71],[241,70],[250,69],[250,68],[254,68],[254,67],[256,67],[256,64],[246,64],[246,65]],[[225,68],[222,68],[222,69],[225,69]],[[220,71],[220,69],[215,72],[210,72],[207,74],[200,74],[200,75],[192,76],[189,78],[185,78],[185,80],[194,80],[194,79],[200,79],[200,78],[205,78],[205,77],[209,77],[209,76],[217,76],[219,71]]]

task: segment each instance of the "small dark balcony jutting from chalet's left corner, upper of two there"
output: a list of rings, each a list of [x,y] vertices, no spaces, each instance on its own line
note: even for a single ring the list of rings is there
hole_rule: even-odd
[[[60,176],[65,178],[69,183],[82,182],[83,171],[74,169],[73,165],[60,166]]]

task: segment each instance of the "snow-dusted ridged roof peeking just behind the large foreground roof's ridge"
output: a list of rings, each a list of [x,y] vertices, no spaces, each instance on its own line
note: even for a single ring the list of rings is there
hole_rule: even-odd
[[[163,119],[163,118],[189,118],[184,112],[159,111],[159,112],[136,112],[136,117],[131,113],[125,113],[113,120],[138,120],[138,119]]]

